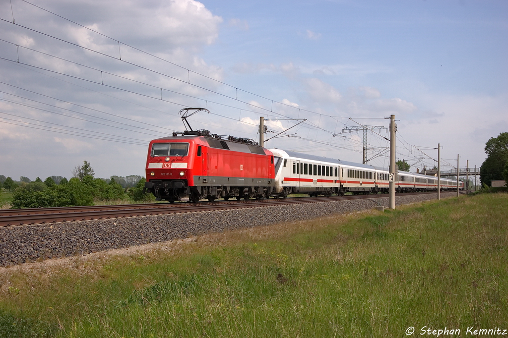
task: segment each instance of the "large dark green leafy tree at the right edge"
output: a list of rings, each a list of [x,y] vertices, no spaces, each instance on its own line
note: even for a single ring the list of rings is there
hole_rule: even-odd
[[[503,171],[508,162],[508,132],[501,132],[497,138],[491,138],[485,144],[487,158],[480,167],[480,180],[488,186],[493,180],[502,180]]]

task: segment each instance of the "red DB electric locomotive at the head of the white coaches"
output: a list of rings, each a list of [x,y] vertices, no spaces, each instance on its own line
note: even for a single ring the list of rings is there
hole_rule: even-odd
[[[274,178],[273,154],[249,139],[191,129],[148,147],[145,189],[157,200],[268,198]]]

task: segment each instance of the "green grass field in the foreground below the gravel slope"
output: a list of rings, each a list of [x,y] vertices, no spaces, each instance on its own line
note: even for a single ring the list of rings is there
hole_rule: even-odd
[[[4,269],[0,336],[508,329],[507,227],[508,194],[481,194],[213,234],[169,251],[76,257],[44,273]]]

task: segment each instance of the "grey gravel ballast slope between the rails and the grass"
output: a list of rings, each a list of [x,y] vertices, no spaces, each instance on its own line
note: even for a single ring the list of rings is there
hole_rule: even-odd
[[[456,193],[441,193],[441,197],[451,196],[456,196]],[[397,196],[396,205],[436,198],[437,193]],[[166,242],[207,232],[310,220],[373,209],[375,206],[387,208],[388,202],[389,198],[386,196],[287,206],[0,227],[0,266]]]

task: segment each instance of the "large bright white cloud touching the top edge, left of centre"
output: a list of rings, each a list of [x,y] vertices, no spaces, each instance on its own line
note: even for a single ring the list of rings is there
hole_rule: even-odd
[[[90,16],[83,18],[87,27],[138,48],[149,45],[151,52],[170,52],[183,46],[199,50],[203,44],[210,45],[217,39],[219,24],[223,22],[221,17],[213,15],[202,3],[194,0],[94,0],[87,3],[70,0],[57,12],[62,13],[72,7],[83,7],[85,13],[99,12],[94,13],[96,15],[89,13]],[[110,52],[116,52],[113,55],[118,55],[115,40],[82,27],[69,26],[67,31],[74,41],[83,46],[109,48]]]

